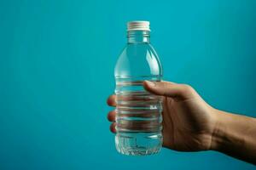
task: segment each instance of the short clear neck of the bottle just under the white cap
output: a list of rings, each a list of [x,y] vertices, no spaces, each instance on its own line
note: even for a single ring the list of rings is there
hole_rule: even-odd
[[[128,43],[149,43],[149,31],[127,31]]]

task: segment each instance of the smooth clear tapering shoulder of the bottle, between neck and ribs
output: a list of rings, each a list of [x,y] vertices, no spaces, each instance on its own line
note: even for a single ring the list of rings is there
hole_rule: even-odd
[[[158,54],[150,43],[127,44],[119,55],[115,76],[162,76]]]

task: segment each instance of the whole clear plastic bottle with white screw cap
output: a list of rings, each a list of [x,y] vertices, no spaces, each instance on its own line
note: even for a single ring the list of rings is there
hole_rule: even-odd
[[[158,153],[162,145],[160,96],[143,88],[143,81],[160,81],[160,59],[149,43],[149,22],[127,23],[128,42],[115,66],[116,149],[121,154]]]

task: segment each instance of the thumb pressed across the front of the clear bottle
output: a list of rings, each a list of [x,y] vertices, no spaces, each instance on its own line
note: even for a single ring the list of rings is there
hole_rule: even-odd
[[[195,94],[195,90],[187,84],[144,81],[143,86],[148,92],[152,94],[177,99],[189,99]]]

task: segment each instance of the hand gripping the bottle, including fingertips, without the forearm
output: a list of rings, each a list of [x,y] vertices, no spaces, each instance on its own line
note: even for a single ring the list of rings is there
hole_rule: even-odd
[[[163,97],[163,146],[172,150],[210,150],[212,133],[216,124],[213,108],[201,99],[189,85],[173,82],[143,83],[144,88]],[[115,95],[108,98],[108,105],[115,106]],[[115,133],[115,111],[108,113]]]

